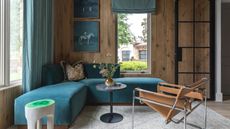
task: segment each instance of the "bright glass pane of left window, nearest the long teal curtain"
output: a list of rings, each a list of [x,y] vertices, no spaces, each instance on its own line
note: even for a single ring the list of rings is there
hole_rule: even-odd
[[[10,81],[22,79],[23,0],[10,1]]]

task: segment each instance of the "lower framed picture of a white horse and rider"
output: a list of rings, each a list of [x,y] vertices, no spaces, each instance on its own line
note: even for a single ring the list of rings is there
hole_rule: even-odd
[[[74,51],[99,52],[99,26],[97,21],[75,21]]]

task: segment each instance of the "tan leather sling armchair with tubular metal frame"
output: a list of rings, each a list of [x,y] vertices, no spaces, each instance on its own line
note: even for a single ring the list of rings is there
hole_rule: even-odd
[[[204,84],[207,82],[207,78],[202,78],[187,86],[162,82],[158,84],[157,92],[135,88],[133,90],[132,102],[132,129],[134,129],[135,100],[145,103],[147,106],[163,115],[163,117],[166,118],[166,124],[169,122],[178,124],[184,121],[184,129],[187,128],[187,125],[198,127],[187,123],[187,116],[199,105],[204,103],[204,129],[206,129],[207,93]],[[197,103],[192,105],[193,102]],[[179,120],[174,120],[173,117],[180,112],[183,112],[184,116]]]

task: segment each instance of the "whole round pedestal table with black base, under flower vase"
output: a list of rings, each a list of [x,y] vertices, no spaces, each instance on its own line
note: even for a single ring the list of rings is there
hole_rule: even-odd
[[[117,123],[123,120],[123,116],[113,112],[113,91],[125,89],[127,85],[122,83],[116,83],[114,86],[106,86],[105,84],[96,85],[96,89],[99,91],[109,92],[110,100],[110,112],[102,115],[100,120],[105,123]]]

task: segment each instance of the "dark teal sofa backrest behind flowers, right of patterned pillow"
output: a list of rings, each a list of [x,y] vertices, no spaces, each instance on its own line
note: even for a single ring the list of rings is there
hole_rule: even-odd
[[[96,68],[94,67],[94,65],[96,65]],[[100,69],[98,68],[98,66],[99,64],[84,64],[85,76],[87,78],[103,78],[99,73]],[[120,77],[120,67],[118,67],[113,77],[114,78]]]

